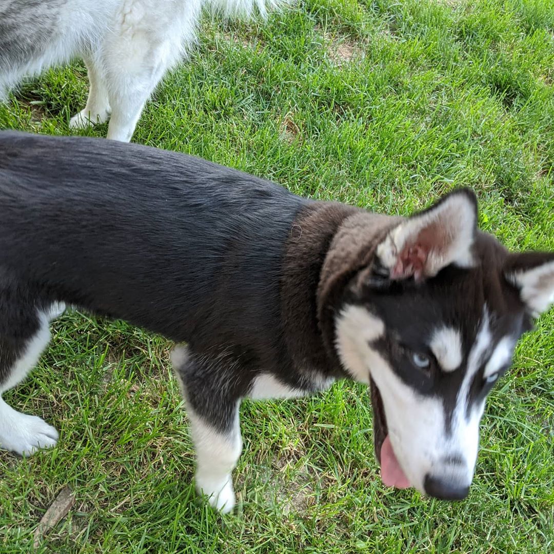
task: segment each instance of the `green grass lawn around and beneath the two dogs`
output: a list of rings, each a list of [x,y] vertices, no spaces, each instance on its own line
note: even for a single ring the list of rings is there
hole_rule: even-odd
[[[484,229],[554,250],[553,81],[551,0],[306,0],[267,24],[206,18],[134,141],[389,213],[469,185]],[[0,106],[0,127],[68,134],[86,91],[83,65],[49,71]],[[553,325],[551,311],[491,394],[468,500],[384,488],[367,393],[339,383],[244,403],[238,509],[222,517],[194,494],[170,345],[64,315],[5,396],[61,439],[31,459],[0,453],[0,551],[31,551],[70,485],[43,552],[552,552]]]

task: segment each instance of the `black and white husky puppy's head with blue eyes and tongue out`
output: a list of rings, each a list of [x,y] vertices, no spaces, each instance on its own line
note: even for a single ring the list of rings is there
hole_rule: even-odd
[[[402,220],[351,279],[336,349],[371,384],[383,483],[463,499],[485,398],[554,301],[554,254],[509,253],[459,189]]]

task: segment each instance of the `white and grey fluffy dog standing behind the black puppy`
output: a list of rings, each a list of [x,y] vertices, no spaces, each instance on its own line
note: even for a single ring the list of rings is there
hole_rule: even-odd
[[[26,75],[81,57],[86,106],[71,127],[104,122],[129,141],[166,70],[194,42],[202,8],[250,15],[286,0],[0,0],[0,99]]]

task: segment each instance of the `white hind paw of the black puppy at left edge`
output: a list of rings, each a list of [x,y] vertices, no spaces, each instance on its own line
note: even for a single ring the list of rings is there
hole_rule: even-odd
[[[22,456],[53,447],[58,437],[57,430],[37,416],[14,411],[11,418],[0,420],[0,446]]]

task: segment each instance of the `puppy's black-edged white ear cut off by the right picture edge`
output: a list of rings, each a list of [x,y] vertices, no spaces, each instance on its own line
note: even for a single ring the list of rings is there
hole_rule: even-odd
[[[510,254],[504,276],[519,289],[521,300],[535,317],[554,303],[554,252]]]

